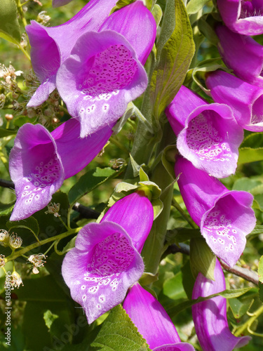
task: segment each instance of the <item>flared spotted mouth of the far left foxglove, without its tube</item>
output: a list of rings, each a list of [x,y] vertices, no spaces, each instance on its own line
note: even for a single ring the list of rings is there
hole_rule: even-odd
[[[19,129],[9,160],[17,195],[10,220],[21,220],[48,204],[65,173],[55,140],[40,124],[24,124]]]

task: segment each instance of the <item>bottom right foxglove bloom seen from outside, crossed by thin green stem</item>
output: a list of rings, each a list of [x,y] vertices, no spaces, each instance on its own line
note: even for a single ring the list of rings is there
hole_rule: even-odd
[[[215,264],[215,282],[199,273],[193,289],[193,299],[209,296],[226,289],[224,273],[219,261]],[[222,296],[196,303],[192,307],[196,335],[203,351],[231,351],[246,345],[250,336],[237,338],[227,323],[227,300]]]

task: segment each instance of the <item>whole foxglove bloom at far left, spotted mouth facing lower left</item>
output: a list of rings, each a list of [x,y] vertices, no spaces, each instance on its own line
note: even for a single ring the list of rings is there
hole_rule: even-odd
[[[78,119],[69,119],[49,133],[40,124],[24,124],[10,153],[9,170],[17,201],[10,220],[22,220],[41,210],[63,180],[74,176],[102,150],[112,126],[79,138]]]

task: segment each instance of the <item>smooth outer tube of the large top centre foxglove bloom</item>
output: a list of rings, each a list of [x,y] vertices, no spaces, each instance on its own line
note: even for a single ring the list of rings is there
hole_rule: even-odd
[[[127,39],[142,65],[146,62],[156,37],[156,22],[142,1],[121,8],[110,15],[100,27],[113,30]]]

